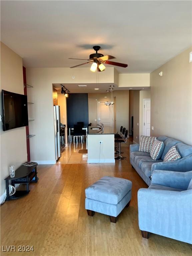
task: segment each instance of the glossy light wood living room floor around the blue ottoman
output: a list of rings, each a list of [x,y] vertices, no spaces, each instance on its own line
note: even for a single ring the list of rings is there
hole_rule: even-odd
[[[129,155],[129,148],[123,148]],[[109,217],[85,210],[85,188],[109,175],[132,181],[132,200],[116,224]],[[115,164],[56,164],[38,166],[39,181],[30,193],[5,202],[1,209],[2,245],[30,245],[34,252],[1,255],[192,255],[192,246],[151,234],[138,227],[137,191],[147,185],[131,168],[129,158]]]

